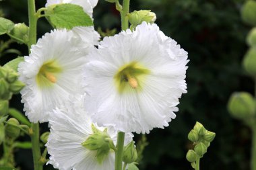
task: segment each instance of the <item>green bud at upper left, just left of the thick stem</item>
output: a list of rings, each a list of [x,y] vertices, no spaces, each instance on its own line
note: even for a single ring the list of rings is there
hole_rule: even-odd
[[[29,28],[24,23],[15,24],[14,28],[11,30],[10,34],[23,40],[25,43],[28,42],[28,31]],[[18,43],[22,44],[22,41],[16,40]]]

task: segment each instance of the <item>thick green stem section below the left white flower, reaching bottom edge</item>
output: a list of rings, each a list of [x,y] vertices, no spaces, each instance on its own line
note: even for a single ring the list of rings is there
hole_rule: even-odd
[[[42,170],[42,165],[40,164],[41,151],[39,146],[39,124],[32,124],[31,126],[33,133],[31,135],[32,142],[32,153],[34,161],[34,170]]]

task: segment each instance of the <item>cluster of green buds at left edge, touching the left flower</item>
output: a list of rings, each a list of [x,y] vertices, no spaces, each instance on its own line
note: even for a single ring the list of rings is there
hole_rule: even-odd
[[[24,87],[24,83],[18,81],[18,73],[9,67],[0,67],[0,116],[7,114],[9,99]]]

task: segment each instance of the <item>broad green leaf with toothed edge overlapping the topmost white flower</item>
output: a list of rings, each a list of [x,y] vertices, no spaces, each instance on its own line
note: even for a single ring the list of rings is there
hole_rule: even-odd
[[[64,3],[47,8],[46,15],[55,28],[71,30],[75,26],[93,26],[92,18],[79,5]]]

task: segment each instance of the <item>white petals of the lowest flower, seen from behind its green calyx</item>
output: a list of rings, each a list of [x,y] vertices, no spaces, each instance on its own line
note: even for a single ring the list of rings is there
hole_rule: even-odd
[[[55,109],[49,118],[51,133],[46,144],[50,161],[60,170],[113,170],[115,169],[115,153],[110,150],[102,163],[96,158],[97,151],[90,151],[82,145],[93,134],[92,121],[84,108],[84,98],[71,99],[65,105]],[[96,125],[95,125],[96,126]],[[104,128],[99,128],[104,130]],[[117,131],[107,128],[107,133],[117,142]],[[132,140],[132,134],[125,134],[125,144]]]

